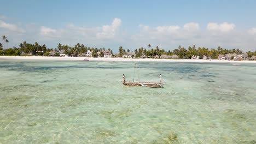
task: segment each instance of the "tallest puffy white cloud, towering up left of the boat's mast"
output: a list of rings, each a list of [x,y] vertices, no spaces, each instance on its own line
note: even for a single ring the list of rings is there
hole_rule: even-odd
[[[112,22],[112,25],[103,26],[101,32],[96,34],[98,39],[112,39],[118,32],[118,29],[121,25],[121,20],[115,18]]]

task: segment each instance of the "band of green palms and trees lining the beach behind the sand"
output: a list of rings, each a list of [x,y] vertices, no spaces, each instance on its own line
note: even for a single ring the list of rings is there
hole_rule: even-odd
[[[13,47],[13,48],[9,48],[8,47],[8,39],[5,35],[2,36],[2,40],[4,41],[4,43],[0,43],[0,55],[11,55],[11,56],[20,56],[20,55],[39,55],[39,56],[49,56],[49,52],[50,51],[61,51],[61,50],[65,50],[65,54],[69,55],[69,56],[79,56],[79,55],[83,55],[83,53],[86,53],[87,50],[92,51],[92,56],[93,57],[98,57],[98,55],[100,55],[101,57],[103,57],[103,51],[105,51],[106,49],[100,48],[97,49],[97,47],[87,47],[84,46],[84,44],[79,44],[77,43],[76,45],[74,45],[73,47],[68,46],[68,45],[62,45],[62,44],[57,44],[57,47],[55,49],[49,49],[46,47],[45,44],[43,45],[39,45],[37,42],[35,42],[34,44],[28,44],[26,43],[26,41],[24,41],[23,43],[19,44],[19,47]],[[242,54],[243,52],[239,49],[232,49],[232,50],[228,50],[228,49],[223,49],[222,47],[218,47],[217,50],[216,49],[208,49],[205,47],[196,47],[195,45],[193,46],[189,46],[188,49],[185,49],[182,46],[179,46],[177,49],[174,49],[173,51],[165,51],[164,49],[160,49],[159,46],[156,46],[155,49],[150,49],[152,46],[149,44],[147,49],[144,49],[143,47],[139,48],[139,49],[135,49],[135,54],[136,57],[140,57],[142,55],[146,55],[147,57],[154,57],[156,55],[161,56],[161,55],[177,55],[179,58],[191,58],[191,56],[200,56],[200,58],[203,57],[203,55],[207,56],[207,57],[211,57],[213,59],[217,59],[218,55],[225,55],[228,53],[236,53],[237,55]],[[108,49],[112,54],[113,51],[111,49]],[[97,53],[98,52],[98,53]],[[122,46],[119,47],[119,56],[123,56],[125,55],[127,52],[131,52],[131,50],[127,49],[123,49]],[[256,51],[251,52],[248,51],[246,52],[248,57],[252,57],[252,56],[256,56]],[[59,53],[56,53],[54,56],[60,56]]]

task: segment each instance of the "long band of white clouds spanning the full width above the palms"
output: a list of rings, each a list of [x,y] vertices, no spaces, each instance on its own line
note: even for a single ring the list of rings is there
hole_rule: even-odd
[[[25,31],[26,30],[26,31]],[[26,33],[24,33],[26,32]],[[38,26],[36,23],[10,24],[0,20],[0,33],[6,35],[10,46],[18,46],[26,40],[28,43],[37,41],[55,48],[57,43],[74,45],[83,43],[86,46],[109,47],[114,52],[120,45],[133,50],[147,47],[148,44],[159,46],[160,49],[173,50],[179,45],[191,45],[225,49],[241,49],[255,51],[256,28],[248,31],[237,31],[233,23],[208,23],[206,29],[200,28],[199,23],[189,22],[184,25],[150,27],[139,25],[138,31],[126,32],[121,29],[121,20],[115,18],[109,25],[101,27],[80,27],[69,24],[61,28]]]

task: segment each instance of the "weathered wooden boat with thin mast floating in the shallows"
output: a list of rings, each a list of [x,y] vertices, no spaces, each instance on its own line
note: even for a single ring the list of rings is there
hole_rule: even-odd
[[[139,74],[138,74],[138,70],[137,70],[137,76],[138,76],[138,81],[135,82],[134,78],[135,78],[135,71],[137,69],[137,64],[135,63],[135,70],[134,70],[134,74],[133,74],[133,82],[131,81],[125,81],[123,82],[123,85],[125,86],[142,86],[142,87],[150,87],[150,88],[160,88],[163,87],[162,83],[159,82],[140,82],[139,81]]]

